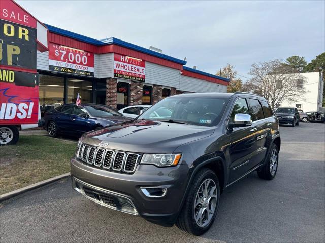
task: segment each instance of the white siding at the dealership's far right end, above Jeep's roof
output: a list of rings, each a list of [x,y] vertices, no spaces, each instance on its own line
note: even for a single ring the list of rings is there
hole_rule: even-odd
[[[178,90],[202,93],[202,92],[227,92],[227,86],[208,82],[198,78],[181,75]]]

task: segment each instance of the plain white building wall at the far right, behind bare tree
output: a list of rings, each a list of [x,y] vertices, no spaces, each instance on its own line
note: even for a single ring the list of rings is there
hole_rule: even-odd
[[[323,90],[321,89],[323,82],[319,77],[319,72],[307,72],[301,73],[301,75],[306,77],[304,87],[307,92],[297,102],[284,101],[280,106],[296,107],[296,104],[301,104],[301,109],[304,112],[318,111],[319,107],[322,106],[323,95]]]

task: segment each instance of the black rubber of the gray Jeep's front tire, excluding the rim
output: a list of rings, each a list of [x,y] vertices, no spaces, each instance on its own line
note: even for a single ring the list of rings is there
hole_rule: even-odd
[[[199,174],[199,173],[198,173]],[[188,205],[188,207],[190,208],[191,210],[191,214],[190,214],[190,221],[192,222],[191,223],[191,231],[194,235],[201,235],[205,232],[207,232],[209,230],[209,228],[212,226],[214,220],[215,220],[215,217],[217,215],[217,212],[218,212],[218,208],[219,208],[219,201],[220,201],[220,186],[219,186],[219,180],[218,180],[218,177],[215,175],[215,173],[213,173],[211,170],[207,170],[206,173],[204,173],[203,175],[198,175],[200,176],[200,179],[198,180],[198,178],[195,178],[194,179],[194,182],[197,182],[195,183],[194,185],[194,190],[191,190],[191,193],[188,195],[189,197],[191,197],[191,203],[190,205]],[[194,218],[194,204],[195,204],[195,197],[196,197],[196,194],[197,194],[197,191],[199,190],[199,187],[201,186],[201,183],[206,180],[206,179],[212,179],[214,181],[214,183],[216,184],[216,187],[217,187],[217,205],[216,205],[216,209],[214,211],[214,215],[211,219],[211,221],[209,222],[209,224],[205,227],[200,227],[197,225],[196,221],[195,221],[195,218]]]

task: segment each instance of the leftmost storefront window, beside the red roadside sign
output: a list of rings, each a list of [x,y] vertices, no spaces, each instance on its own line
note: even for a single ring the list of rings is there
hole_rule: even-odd
[[[64,78],[40,74],[41,116],[64,103]]]

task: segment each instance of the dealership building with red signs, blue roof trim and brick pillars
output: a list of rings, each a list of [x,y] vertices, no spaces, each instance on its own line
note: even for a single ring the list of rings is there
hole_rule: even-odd
[[[82,102],[155,104],[183,92],[227,92],[229,80],[186,67],[186,61],[111,37],[86,37],[45,25],[47,50],[37,51],[40,105]]]

